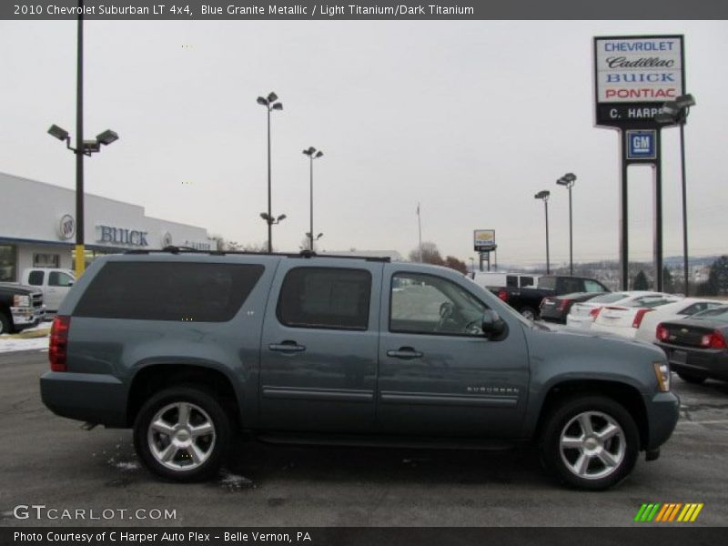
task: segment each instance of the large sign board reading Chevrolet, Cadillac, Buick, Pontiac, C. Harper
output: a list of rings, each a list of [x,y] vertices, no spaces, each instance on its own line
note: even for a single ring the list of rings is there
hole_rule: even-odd
[[[652,125],[684,93],[682,35],[594,38],[596,125]]]

